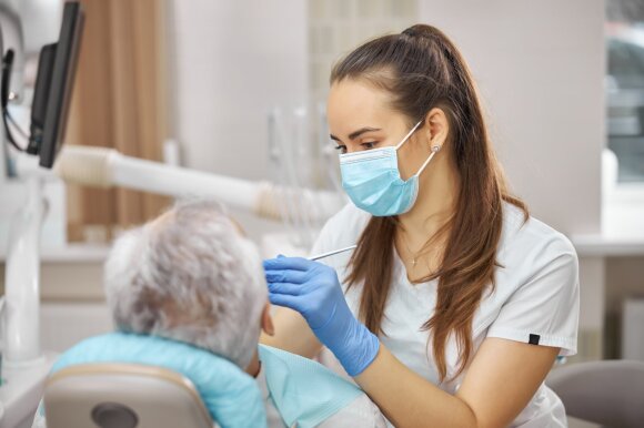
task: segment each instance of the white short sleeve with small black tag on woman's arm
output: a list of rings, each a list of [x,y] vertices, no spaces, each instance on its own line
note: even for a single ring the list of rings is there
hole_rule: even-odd
[[[577,256],[563,236],[544,252],[547,256],[541,258],[545,263],[539,264],[501,307],[487,337],[559,347],[560,356],[571,356],[577,349]]]

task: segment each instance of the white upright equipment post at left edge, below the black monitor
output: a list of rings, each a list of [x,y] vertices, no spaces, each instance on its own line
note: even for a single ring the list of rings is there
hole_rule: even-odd
[[[40,349],[40,230],[44,171],[22,176],[27,201],[13,217],[6,264],[0,428],[29,428],[56,354]]]

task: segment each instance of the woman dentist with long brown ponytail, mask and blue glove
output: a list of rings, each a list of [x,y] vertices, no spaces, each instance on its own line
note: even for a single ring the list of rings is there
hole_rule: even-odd
[[[358,247],[265,261],[263,342],[326,346],[396,427],[566,426],[543,381],[576,351],[575,251],[509,193],[459,50],[422,24],[361,45],[328,116],[353,204],[313,252]]]

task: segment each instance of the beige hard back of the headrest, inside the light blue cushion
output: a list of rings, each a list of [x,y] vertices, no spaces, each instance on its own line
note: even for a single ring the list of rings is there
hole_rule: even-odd
[[[193,384],[178,373],[135,364],[87,364],[50,376],[48,428],[212,428]]]

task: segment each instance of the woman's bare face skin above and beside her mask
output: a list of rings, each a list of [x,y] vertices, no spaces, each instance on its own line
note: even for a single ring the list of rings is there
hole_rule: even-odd
[[[409,120],[391,108],[391,94],[368,81],[343,79],[333,83],[326,103],[330,137],[340,153],[396,145],[411,130]],[[426,159],[415,142],[416,131],[398,152],[403,180],[413,175]]]

